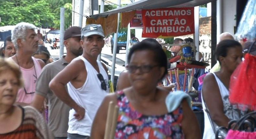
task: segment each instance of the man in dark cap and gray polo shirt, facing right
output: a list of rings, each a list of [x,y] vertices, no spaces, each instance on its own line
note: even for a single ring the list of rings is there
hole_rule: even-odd
[[[55,139],[66,139],[68,130],[68,115],[70,107],[59,100],[49,89],[50,81],[62,71],[73,59],[82,55],[83,48],[80,45],[81,27],[70,27],[64,32],[64,46],[67,54],[61,59],[46,65],[42,69],[36,84],[36,96],[32,106],[43,111],[44,99],[49,99],[49,120],[48,125],[52,130]],[[67,86],[64,86],[67,91]]]

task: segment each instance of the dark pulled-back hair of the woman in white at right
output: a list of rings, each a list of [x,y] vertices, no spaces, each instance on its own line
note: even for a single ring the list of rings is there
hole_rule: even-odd
[[[216,59],[219,61],[219,57],[226,57],[229,48],[241,47],[242,45],[233,39],[226,39],[219,42],[216,48]]]

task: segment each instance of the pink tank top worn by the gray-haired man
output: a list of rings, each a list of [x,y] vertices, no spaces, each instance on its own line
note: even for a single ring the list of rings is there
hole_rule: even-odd
[[[22,79],[24,81],[24,87],[18,90],[16,102],[31,103],[35,96],[36,81],[41,73],[41,65],[34,57],[32,57],[34,66],[30,69],[24,69],[20,67],[22,73]],[[36,71],[35,71],[36,69]],[[26,91],[25,91],[26,90]]]

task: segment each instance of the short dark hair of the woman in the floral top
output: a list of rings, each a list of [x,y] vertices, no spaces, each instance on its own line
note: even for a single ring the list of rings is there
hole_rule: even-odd
[[[159,67],[165,68],[165,73],[161,77],[161,79],[163,79],[167,74],[167,57],[161,44],[158,43],[157,40],[154,38],[146,38],[141,42],[135,44],[128,54],[128,63],[130,63],[131,57],[134,54],[134,52],[142,50],[150,50],[154,52],[155,61],[158,63]]]

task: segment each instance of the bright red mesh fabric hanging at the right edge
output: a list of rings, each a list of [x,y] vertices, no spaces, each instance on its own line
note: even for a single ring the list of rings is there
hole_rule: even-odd
[[[256,110],[256,56],[245,55],[245,60],[231,75],[229,87],[231,103],[242,104],[242,110]]]

